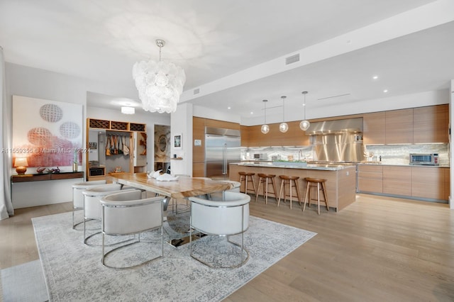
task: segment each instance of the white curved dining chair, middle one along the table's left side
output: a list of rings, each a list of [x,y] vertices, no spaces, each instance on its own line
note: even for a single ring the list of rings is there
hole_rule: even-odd
[[[89,243],[89,238],[93,237],[96,234],[101,233],[101,227],[98,228],[98,231],[87,236],[87,221],[89,220],[99,220],[101,222],[101,198],[122,191],[121,184],[104,184],[101,186],[92,186],[89,189],[82,191],[84,195],[84,244],[85,245],[94,245]],[[133,190],[133,188],[128,187],[123,191]],[[94,245],[96,246],[96,245]],[[99,244],[101,246],[101,244]]]

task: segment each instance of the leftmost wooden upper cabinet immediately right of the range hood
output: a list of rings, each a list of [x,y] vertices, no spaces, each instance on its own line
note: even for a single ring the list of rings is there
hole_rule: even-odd
[[[384,145],[385,113],[366,113],[362,116],[362,137],[364,145]]]

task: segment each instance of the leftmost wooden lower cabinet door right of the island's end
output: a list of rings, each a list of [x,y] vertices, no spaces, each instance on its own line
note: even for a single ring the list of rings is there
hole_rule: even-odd
[[[358,165],[358,191],[383,193],[383,167],[381,165]]]

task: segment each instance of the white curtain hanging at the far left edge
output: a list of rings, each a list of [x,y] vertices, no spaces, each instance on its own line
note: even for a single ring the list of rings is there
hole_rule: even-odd
[[[11,203],[11,103],[6,101],[6,78],[5,58],[3,48],[0,46],[0,116],[2,117],[0,144],[0,220],[14,215],[13,204]]]

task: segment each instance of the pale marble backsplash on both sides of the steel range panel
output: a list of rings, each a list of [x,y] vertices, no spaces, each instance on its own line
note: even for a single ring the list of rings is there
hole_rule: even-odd
[[[438,153],[441,166],[449,167],[449,145],[365,145],[365,160],[373,155],[372,160],[380,160],[382,164],[409,164],[410,153]],[[241,147],[241,160],[253,160],[255,153],[266,153],[267,160],[317,160],[314,158],[312,146],[301,147]]]

